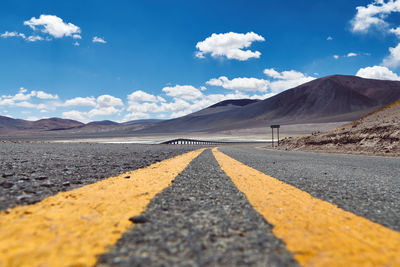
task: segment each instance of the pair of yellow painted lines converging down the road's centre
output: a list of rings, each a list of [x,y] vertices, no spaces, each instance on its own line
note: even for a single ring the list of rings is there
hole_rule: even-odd
[[[94,265],[202,151],[0,212],[0,267]],[[213,153],[301,265],[400,266],[400,233]]]

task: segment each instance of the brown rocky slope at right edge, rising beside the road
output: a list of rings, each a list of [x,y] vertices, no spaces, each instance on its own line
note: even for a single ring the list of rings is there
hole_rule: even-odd
[[[338,129],[285,139],[281,149],[400,156],[400,99]]]

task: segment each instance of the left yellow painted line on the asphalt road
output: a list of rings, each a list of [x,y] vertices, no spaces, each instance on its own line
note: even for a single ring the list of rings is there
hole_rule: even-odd
[[[0,212],[0,266],[94,265],[203,150]]]

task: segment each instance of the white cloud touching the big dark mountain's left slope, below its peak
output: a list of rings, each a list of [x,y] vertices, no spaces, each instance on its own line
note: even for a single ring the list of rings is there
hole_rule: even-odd
[[[295,70],[278,72],[275,69],[265,69],[264,74],[273,78],[269,81],[269,88],[274,94],[315,80],[314,77]]]

